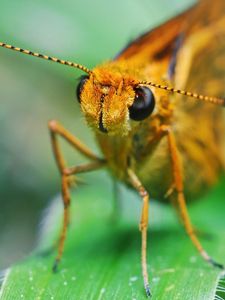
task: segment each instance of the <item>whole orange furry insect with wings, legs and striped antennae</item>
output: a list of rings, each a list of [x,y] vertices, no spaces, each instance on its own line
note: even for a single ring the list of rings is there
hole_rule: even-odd
[[[77,96],[103,156],[95,155],[59,122],[49,122],[64,204],[53,270],[63,254],[73,176],[101,168],[108,168],[142,199],[141,265],[147,296],[151,295],[147,270],[149,196],[160,201],[171,198],[200,255],[223,269],[202,247],[188,214],[186,198],[196,198],[225,169],[221,109],[225,106],[224,38],[224,0],[215,0],[213,6],[204,0],[140,36],[114,60],[93,70],[0,42],[3,48],[85,73]],[[90,162],[68,166],[59,136]]]

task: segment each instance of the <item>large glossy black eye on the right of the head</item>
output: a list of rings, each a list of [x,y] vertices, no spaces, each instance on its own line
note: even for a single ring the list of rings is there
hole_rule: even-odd
[[[155,97],[152,91],[141,86],[135,89],[135,99],[129,107],[130,118],[134,121],[146,119],[155,108]]]

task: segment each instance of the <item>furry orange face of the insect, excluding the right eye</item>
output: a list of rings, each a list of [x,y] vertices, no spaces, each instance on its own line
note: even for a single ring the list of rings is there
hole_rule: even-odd
[[[121,64],[95,68],[83,79],[80,95],[78,92],[88,124],[108,134],[126,135],[130,128],[129,107],[134,102],[137,85],[138,80]]]

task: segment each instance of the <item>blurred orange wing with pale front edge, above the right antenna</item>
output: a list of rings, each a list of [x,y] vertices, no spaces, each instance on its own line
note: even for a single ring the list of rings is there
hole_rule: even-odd
[[[225,1],[205,0],[177,57],[175,85],[206,95],[225,95]]]

